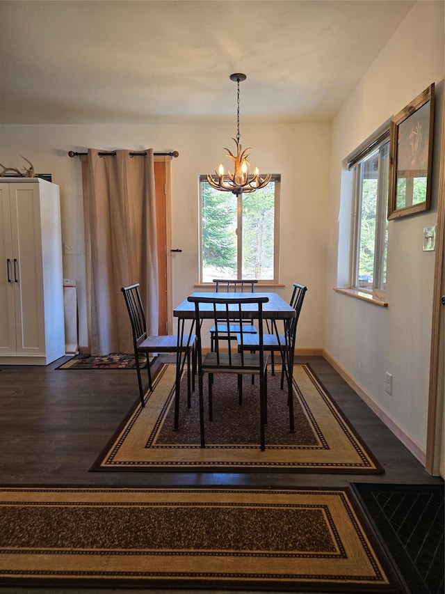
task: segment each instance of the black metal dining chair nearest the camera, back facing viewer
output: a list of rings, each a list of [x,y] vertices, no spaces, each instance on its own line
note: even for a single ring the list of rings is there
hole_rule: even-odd
[[[221,297],[205,297],[204,295],[188,297],[188,301],[195,304],[195,327],[197,328],[197,371],[200,404],[200,437],[201,447],[205,447],[204,439],[204,374],[209,375],[209,421],[213,421],[213,375],[216,373],[229,373],[238,376],[238,402],[242,404],[243,375],[259,376],[259,417],[260,417],[260,447],[265,449],[265,425],[267,421],[267,364],[268,356],[263,348],[263,304],[269,298],[266,295],[253,297],[237,297],[236,295],[221,295]],[[202,354],[202,332],[200,324],[200,308],[210,308],[215,323],[215,350]],[[241,327],[246,318],[246,311],[252,313],[252,318],[258,320],[258,345],[257,352],[247,353],[243,349],[238,351],[232,343],[237,341],[236,334],[232,334],[232,326]],[[227,352],[220,352],[219,327],[224,325],[224,334],[227,334]],[[243,332],[239,333],[239,340],[243,344]]]

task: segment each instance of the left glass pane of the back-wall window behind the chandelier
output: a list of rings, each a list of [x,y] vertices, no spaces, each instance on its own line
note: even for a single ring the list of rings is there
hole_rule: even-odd
[[[236,278],[236,196],[201,182],[202,282]]]

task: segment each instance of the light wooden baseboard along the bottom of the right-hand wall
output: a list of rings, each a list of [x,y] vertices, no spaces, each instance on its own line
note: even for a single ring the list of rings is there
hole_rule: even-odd
[[[412,455],[421,462],[422,466],[426,465],[426,451],[421,445],[406,432],[406,430],[385,410],[379,402],[366,391],[355,378],[346,371],[327,351],[323,349],[323,357],[332,365],[332,367],[343,377],[343,380],[359,395],[366,405],[378,416],[380,421],[387,425],[394,435],[402,442],[402,444],[412,453]]]

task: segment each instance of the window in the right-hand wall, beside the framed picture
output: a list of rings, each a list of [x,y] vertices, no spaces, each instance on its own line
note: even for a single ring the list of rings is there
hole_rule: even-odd
[[[385,290],[387,282],[389,132],[362,150],[354,171],[352,286]]]

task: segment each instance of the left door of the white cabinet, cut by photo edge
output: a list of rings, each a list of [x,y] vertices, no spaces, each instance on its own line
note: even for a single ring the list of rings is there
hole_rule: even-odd
[[[0,354],[15,353],[14,258],[9,185],[0,186]]]

